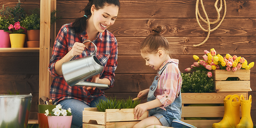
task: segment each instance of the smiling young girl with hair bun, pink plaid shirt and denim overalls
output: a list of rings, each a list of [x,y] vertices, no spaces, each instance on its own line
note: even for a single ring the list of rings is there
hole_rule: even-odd
[[[139,119],[148,109],[151,109],[150,117],[141,120],[133,128],[171,126],[172,120],[181,120],[181,73],[178,60],[171,59],[167,39],[160,35],[162,29],[162,26],[152,28],[152,34],[140,45],[141,56],[146,60],[146,65],[157,70],[157,75],[149,89],[140,91],[137,96],[147,96],[148,102],[139,104],[134,109],[134,118]]]

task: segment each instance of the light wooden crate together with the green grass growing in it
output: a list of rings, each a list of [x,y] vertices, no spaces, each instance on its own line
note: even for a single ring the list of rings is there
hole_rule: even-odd
[[[148,112],[134,119],[133,108],[140,100],[110,98],[100,100],[95,108],[84,108],[84,128],[132,128],[136,123],[148,117]]]

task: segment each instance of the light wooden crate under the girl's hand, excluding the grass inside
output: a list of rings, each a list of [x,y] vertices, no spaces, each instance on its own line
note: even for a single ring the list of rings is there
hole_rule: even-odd
[[[134,109],[106,109],[98,112],[97,108],[84,108],[83,128],[132,128],[136,123],[148,117],[148,112],[134,119]]]

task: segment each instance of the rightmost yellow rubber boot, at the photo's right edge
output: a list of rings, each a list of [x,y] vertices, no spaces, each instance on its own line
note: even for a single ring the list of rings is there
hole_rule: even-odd
[[[251,120],[251,95],[249,100],[245,100],[241,95],[241,111],[242,118],[236,128],[253,128],[253,121]]]

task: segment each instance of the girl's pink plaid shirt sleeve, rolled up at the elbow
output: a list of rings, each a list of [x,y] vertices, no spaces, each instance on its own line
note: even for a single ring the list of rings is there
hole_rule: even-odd
[[[156,98],[163,104],[160,108],[164,110],[164,107],[172,104],[177,97],[177,93],[179,93],[178,86],[182,79],[178,76],[180,76],[180,71],[174,63],[168,64],[160,76],[158,87],[162,87],[160,90],[163,92],[161,93],[162,95],[158,95]]]

